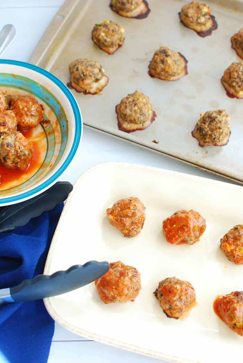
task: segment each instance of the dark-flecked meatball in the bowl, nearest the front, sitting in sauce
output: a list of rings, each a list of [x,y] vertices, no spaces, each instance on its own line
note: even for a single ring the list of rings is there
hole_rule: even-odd
[[[0,161],[5,168],[26,170],[33,151],[32,142],[21,132],[11,131],[0,137]]]

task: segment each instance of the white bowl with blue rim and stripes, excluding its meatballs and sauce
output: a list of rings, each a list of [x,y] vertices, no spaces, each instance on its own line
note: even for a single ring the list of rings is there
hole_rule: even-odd
[[[8,95],[29,94],[44,107],[45,127],[32,130],[40,144],[40,162],[7,187],[0,185],[0,205],[18,203],[53,185],[67,169],[82,139],[82,116],[72,93],[48,71],[12,60],[0,60],[0,89]],[[45,123],[44,123],[45,124]],[[39,141],[38,141],[39,140]]]

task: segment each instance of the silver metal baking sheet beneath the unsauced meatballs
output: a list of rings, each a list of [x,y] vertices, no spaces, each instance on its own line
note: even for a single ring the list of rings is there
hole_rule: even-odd
[[[67,0],[37,45],[30,63],[67,83],[68,65],[73,60],[99,61],[109,77],[107,87],[98,95],[72,90],[85,125],[243,182],[243,100],[228,98],[220,82],[224,70],[239,61],[230,38],[242,27],[243,0],[208,1],[218,29],[206,38],[179,21],[178,12],[189,0],[148,2],[151,13],[146,19],[137,20],[112,12],[109,0]],[[94,24],[105,19],[125,28],[125,42],[112,56],[91,40]],[[186,57],[186,77],[175,82],[149,77],[149,61],[160,46],[168,46]],[[147,129],[127,134],[118,130],[115,106],[135,90],[149,96],[157,118]],[[216,109],[225,109],[231,117],[230,140],[224,147],[201,148],[191,131],[200,113]]]

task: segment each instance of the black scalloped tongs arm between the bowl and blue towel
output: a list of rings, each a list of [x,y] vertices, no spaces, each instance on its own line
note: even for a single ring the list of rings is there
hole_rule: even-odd
[[[16,227],[28,223],[31,218],[50,211],[57,204],[66,200],[72,190],[73,185],[68,181],[58,181],[45,192],[31,199],[2,207],[0,209],[0,233],[13,231]]]

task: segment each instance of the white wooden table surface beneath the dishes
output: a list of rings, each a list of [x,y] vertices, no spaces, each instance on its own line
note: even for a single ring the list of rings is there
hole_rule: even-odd
[[[63,2],[64,0],[0,1],[0,29],[5,24],[14,24],[17,28],[17,36],[2,58],[28,62],[42,34]],[[226,179],[156,154],[153,151],[144,150],[88,127],[84,127],[81,147],[79,147],[77,155],[62,180],[74,183],[86,169],[108,161],[145,164],[226,181]],[[152,363],[157,361],[153,358],[87,340],[55,324],[48,363],[107,363],[112,360],[116,363]]]

